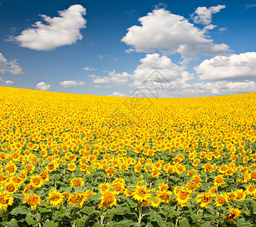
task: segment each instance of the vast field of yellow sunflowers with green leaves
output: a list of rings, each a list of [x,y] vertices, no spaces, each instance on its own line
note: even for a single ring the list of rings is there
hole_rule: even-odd
[[[2,226],[256,226],[256,93],[0,107]]]

